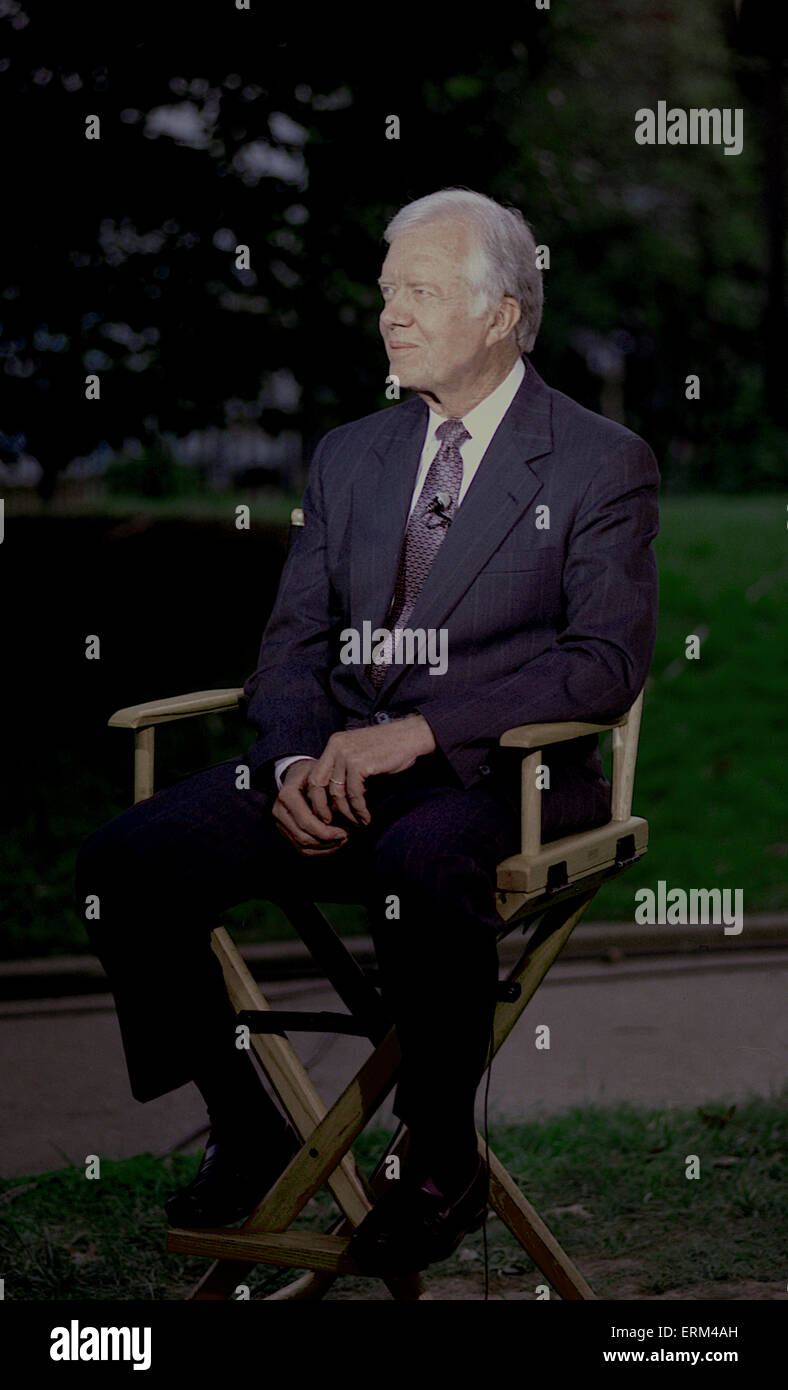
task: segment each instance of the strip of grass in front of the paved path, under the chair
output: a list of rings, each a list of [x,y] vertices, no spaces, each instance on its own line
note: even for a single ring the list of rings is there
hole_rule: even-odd
[[[493,1123],[491,1147],[602,1298],[653,1297],[714,1282],[784,1279],[788,1091],[725,1111],[582,1106],[517,1125]],[[388,1130],[354,1145],[370,1173]],[[687,1156],[700,1159],[688,1180]],[[199,1155],[150,1154],[101,1163],[99,1180],[68,1168],[0,1180],[0,1254],[7,1300],[182,1300],[206,1261],[167,1255],[161,1202],[189,1182]],[[557,1211],[556,1211],[557,1208]],[[575,1208],[568,1211],[567,1208]],[[327,1229],[336,1208],[322,1190],[299,1225]],[[491,1291],[532,1293],[542,1280],[506,1227],[488,1218]],[[482,1233],[427,1277],[484,1283]],[[292,1277],[257,1266],[261,1297]],[[335,1291],[378,1297],[379,1284],[343,1277]]]

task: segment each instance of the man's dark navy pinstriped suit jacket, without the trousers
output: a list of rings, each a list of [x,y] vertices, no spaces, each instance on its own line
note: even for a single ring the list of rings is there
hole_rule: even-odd
[[[637,698],[656,631],[655,456],[630,430],[548,386],[527,359],[525,368],[410,619],[413,628],[448,628],[443,676],[392,666],[377,692],[363,664],[338,655],[343,628],[385,626],[427,406],[414,396],[320,441],[304,531],[245,687],[258,734],[253,770],[272,771],[289,753],[320,756],[347,720],[418,710],[470,787],[500,766],[506,728],[605,721]],[[543,506],[549,530],[536,525]],[[599,781],[595,738],[552,756]]]

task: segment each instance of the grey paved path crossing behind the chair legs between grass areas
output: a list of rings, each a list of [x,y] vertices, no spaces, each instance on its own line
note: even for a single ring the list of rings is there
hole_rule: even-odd
[[[775,1094],[788,1073],[788,951],[559,960],[493,1062],[489,1115],[575,1104],[699,1105]],[[264,987],[286,1008],[336,1008],[315,981]],[[550,1049],[535,1027],[550,1027]],[[359,1038],[293,1034],[327,1104],[368,1054]],[[135,1101],[110,995],[0,1005],[0,1176],[161,1154],[203,1126],[193,1086]],[[477,1115],[482,1115],[479,1102]],[[379,1112],[391,1123],[388,1105]],[[195,1144],[196,1147],[196,1144]]]

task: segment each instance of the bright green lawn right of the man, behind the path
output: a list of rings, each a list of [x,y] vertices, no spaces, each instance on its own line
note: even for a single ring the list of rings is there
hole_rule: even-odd
[[[660,623],[634,801],[649,821],[649,853],[589,916],[631,920],[634,892],[659,878],[742,888],[745,912],[788,905],[785,539],[778,498],[663,500]],[[703,627],[700,657],[687,660],[685,639]]]

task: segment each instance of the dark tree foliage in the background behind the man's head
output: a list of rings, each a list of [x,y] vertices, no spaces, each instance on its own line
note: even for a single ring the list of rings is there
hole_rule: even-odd
[[[457,185],[550,247],[553,385],[642,432],[678,486],[778,481],[785,61],[757,6],[523,4],[514,38],[479,42],[339,13],[281,36],[229,0],[4,11],[0,449],[33,455],[44,493],[101,442],[250,423],[297,431],[306,460],[385,406],[381,234]],[[742,154],[638,146],[660,99],[744,107]]]

